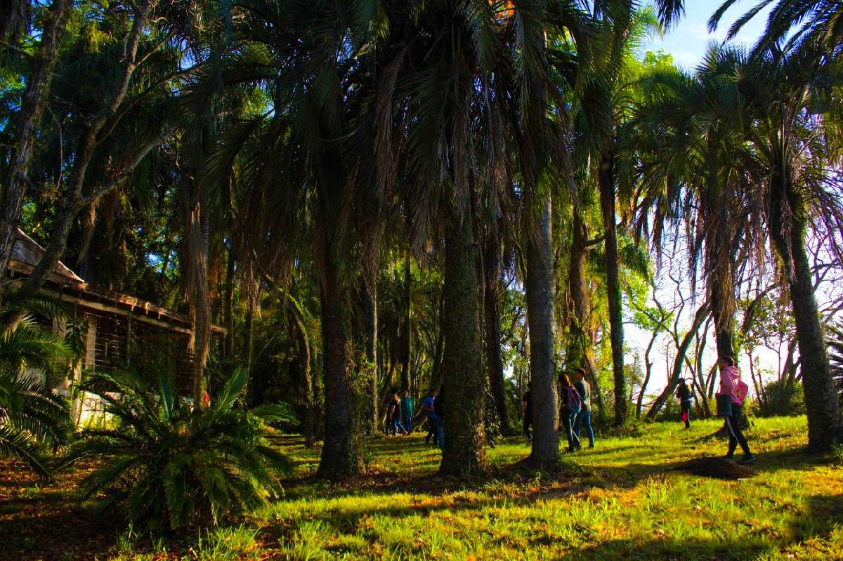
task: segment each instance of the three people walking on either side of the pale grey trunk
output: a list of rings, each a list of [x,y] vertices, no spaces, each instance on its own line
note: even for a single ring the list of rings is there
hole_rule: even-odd
[[[565,431],[568,441],[568,451],[577,451],[580,444],[580,430],[588,435],[588,447],[594,447],[594,430],[591,426],[591,386],[585,380],[585,370],[577,368],[574,371],[574,382],[567,374],[559,376],[559,398],[561,430]],[[533,388],[527,382],[527,392],[521,399],[522,429],[527,441],[533,441]]]

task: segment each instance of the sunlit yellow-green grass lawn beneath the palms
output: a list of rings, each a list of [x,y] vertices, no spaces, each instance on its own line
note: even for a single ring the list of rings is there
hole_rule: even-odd
[[[110,546],[95,540],[99,550],[68,558],[843,558],[840,457],[803,453],[805,419],[755,420],[747,433],[759,457],[754,478],[722,481],[674,469],[722,455],[725,443],[705,438],[718,426],[657,424],[636,437],[599,438],[594,450],[566,455],[552,475],[512,468],[529,448],[505,439],[488,452],[490,476],[470,483],[440,478],[438,450],[413,435],[379,439],[365,476],[328,484],[312,477],[319,450],[284,436],[280,446],[297,473],[287,496],[266,510],[167,541],[111,530]],[[19,503],[69,503],[68,490],[0,487],[13,494],[0,510],[0,535],[13,526],[9,516],[26,512]],[[10,542],[3,542],[0,558],[62,558],[37,541],[29,550],[16,542],[4,554]]]

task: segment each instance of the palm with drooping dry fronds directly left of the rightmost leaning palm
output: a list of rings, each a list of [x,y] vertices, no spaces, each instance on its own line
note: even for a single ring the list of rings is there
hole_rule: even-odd
[[[713,49],[694,76],[670,69],[644,78],[644,101],[633,127],[644,156],[639,228],[660,245],[665,226],[685,226],[691,270],[702,257],[714,319],[718,355],[734,356],[735,261],[742,244],[751,247],[758,228],[747,220],[748,178],[742,173],[740,104],[730,68],[739,53]],[[651,134],[652,133],[652,134]],[[646,152],[652,151],[650,154]],[[692,279],[693,280],[693,279]]]

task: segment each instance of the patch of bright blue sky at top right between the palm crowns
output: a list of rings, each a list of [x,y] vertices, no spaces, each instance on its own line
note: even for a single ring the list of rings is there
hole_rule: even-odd
[[[685,0],[685,17],[674,26],[668,35],[662,39],[656,37],[645,47],[646,51],[658,51],[663,49],[674,56],[674,61],[679,67],[692,69],[700,61],[706,46],[713,40],[720,42],[726,36],[729,27],[740,15],[752,8],[756,0],[739,0],[723,16],[720,26],[713,34],[706,29],[706,22],[711,13],[720,6],[722,0]],[[770,9],[756,15],[749,24],[744,26],[738,37],[738,43],[750,45],[758,38],[763,31],[766,16]]]

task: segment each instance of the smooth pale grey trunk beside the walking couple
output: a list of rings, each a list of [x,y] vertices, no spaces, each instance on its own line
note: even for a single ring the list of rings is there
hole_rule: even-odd
[[[550,197],[529,229],[527,240],[527,322],[533,396],[533,451],[538,462],[559,461],[559,400],[553,367],[553,248]]]

